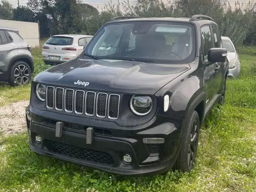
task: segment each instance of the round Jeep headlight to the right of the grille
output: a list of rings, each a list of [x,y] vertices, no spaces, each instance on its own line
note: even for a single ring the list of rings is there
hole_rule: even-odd
[[[130,107],[135,115],[147,115],[153,106],[152,99],[149,96],[133,95],[130,102]]]

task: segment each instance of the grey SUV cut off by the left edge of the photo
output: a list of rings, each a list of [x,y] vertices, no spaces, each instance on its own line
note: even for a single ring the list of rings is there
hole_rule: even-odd
[[[0,81],[12,86],[28,84],[33,72],[31,47],[19,30],[0,27]]]

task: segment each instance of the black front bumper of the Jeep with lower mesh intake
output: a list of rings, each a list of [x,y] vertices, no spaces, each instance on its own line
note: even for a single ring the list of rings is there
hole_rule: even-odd
[[[70,125],[63,127],[62,137],[55,137],[56,126],[44,123],[45,117],[31,113],[29,107],[26,109],[26,118],[30,133],[29,146],[35,153],[111,173],[153,175],[166,172],[172,168],[180,149],[180,129],[166,122],[166,117],[158,117],[156,125],[150,128],[123,130],[120,137],[108,134],[107,130],[105,133],[96,131],[91,144],[86,144],[85,130],[70,129]],[[36,135],[42,137],[40,143],[35,140]],[[156,153],[152,153],[152,148],[149,150],[143,138],[164,138],[164,143],[158,151],[153,146]],[[123,161],[125,154],[132,157],[131,164]]]

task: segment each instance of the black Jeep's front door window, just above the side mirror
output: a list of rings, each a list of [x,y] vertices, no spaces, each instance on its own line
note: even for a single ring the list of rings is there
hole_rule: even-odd
[[[213,39],[211,35],[210,26],[201,28],[202,45],[204,49],[204,60],[207,60],[207,54],[211,48],[213,48]]]

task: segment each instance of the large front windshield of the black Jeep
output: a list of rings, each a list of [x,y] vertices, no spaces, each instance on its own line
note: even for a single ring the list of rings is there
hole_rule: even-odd
[[[112,23],[94,36],[84,54],[99,59],[191,62],[195,57],[195,32],[192,25],[180,23]]]

